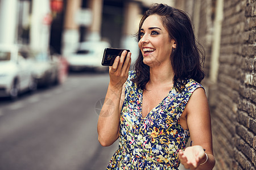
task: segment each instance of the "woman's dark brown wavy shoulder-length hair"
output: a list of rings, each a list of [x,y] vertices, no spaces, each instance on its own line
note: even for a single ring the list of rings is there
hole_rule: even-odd
[[[140,30],[144,20],[153,14],[160,16],[170,39],[176,41],[176,49],[170,56],[175,74],[173,81],[176,90],[182,91],[188,79],[193,79],[200,83],[204,79],[203,63],[205,54],[203,46],[196,41],[192,22],[188,15],[177,8],[155,3],[145,12],[139,23],[138,41],[141,39]],[[137,83],[141,90],[146,90],[146,84],[150,79],[150,67],[143,63],[141,50],[139,50],[134,70],[136,71],[136,76],[133,82]]]

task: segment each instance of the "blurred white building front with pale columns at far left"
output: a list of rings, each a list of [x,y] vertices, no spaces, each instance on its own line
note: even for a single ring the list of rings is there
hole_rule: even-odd
[[[49,7],[49,1],[1,0],[0,43],[30,44],[34,49],[46,50],[51,25]]]

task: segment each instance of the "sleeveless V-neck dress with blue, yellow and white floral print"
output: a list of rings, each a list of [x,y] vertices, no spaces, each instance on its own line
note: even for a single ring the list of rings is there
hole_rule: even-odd
[[[134,76],[135,72],[130,71],[120,116],[119,148],[106,169],[176,170],[180,164],[178,151],[185,148],[189,138],[179,118],[193,91],[202,86],[189,79],[183,92],[172,88],[143,118],[143,91],[131,82]]]

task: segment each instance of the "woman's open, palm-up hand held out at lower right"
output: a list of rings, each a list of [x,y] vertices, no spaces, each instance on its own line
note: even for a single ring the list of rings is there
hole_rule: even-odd
[[[206,155],[204,148],[196,145],[185,148],[184,151],[179,150],[180,163],[187,169],[197,169],[200,163],[205,162]]]

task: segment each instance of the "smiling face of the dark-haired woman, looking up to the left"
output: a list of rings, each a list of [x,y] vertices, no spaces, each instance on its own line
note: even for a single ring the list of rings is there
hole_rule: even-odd
[[[150,15],[144,20],[140,35],[138,45],[146,65],[155,67],[164,63],[171,64],[170,56],[176,43],[170,39],[159,15]]]

